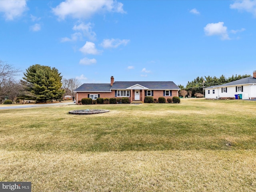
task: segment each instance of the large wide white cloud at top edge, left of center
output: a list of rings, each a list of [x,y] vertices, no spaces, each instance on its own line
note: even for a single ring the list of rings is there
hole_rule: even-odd
[[[76,19],[90,18],[90,16],[101,12],[125,13],[123,4],[116,2],[116,0],[66,0],[61,2],[56,8],[52,8],[52,11],[62,20],[67,16]]]

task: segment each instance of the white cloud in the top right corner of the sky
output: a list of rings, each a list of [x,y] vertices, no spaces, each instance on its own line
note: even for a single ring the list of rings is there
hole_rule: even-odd
[[[236,1],[229,6],[231,9],[237,9],[238,11],[246,11],[256,16],[256,1]]]

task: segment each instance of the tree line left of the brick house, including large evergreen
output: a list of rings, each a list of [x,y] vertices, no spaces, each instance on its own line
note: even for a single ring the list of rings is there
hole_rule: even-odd
[[[0,60],[0,100],[61,101],[64,94],[75,98],[74,90],[81,85],[75,78],[62,79],[56,68],[35,64],[26,69],[22,80],[16,80],[21,71]]]

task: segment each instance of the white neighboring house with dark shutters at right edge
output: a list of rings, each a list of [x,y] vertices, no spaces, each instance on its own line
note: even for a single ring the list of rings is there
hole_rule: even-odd
[[[235,98],[236,94],[242,94],[242,99],[256,99],[256,71],[251,77],[210,86],[204,90],[206,99]]]

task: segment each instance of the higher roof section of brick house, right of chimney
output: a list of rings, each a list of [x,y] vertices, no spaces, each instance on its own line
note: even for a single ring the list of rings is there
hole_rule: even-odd
[[[116,81],[111,89],[127,89],[135,85],[140,85],[150,90],[180,90],[172,81]]]

